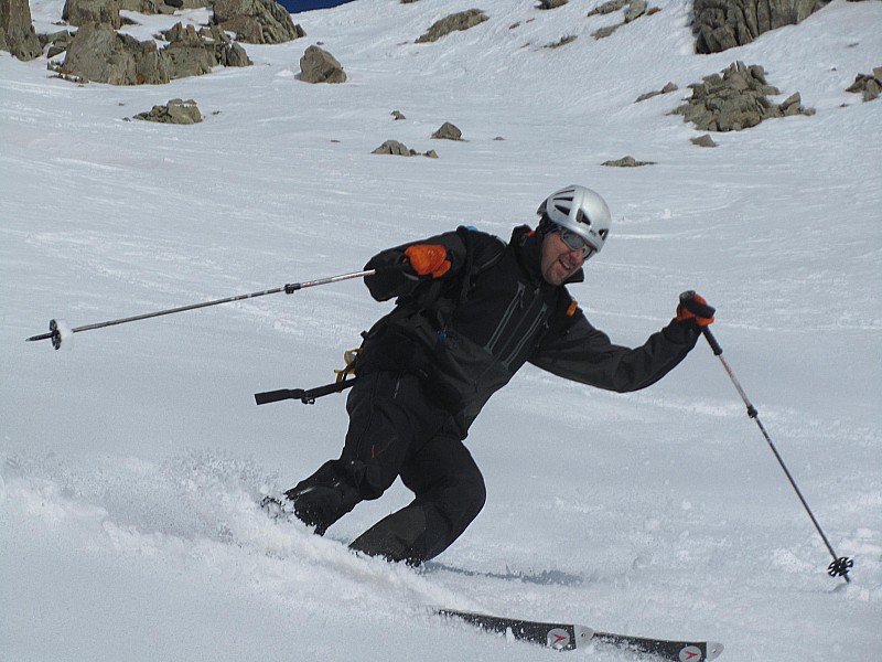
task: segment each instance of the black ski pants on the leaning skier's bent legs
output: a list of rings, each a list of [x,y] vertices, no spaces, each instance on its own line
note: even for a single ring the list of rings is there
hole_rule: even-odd
[[[378,499],[397,477],[415,494],[349,546],[418,565],[441,554],[481,512],[484,479],[452,415],[433,404],[416,375],[358,377],[346,409],[340,459],[325,462],[287,494],[298,517],[323,534],[361,501]]]

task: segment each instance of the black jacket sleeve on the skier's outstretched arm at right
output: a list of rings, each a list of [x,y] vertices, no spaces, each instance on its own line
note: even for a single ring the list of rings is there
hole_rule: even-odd
[[[682,361],[700,333],[695,322],[671,321],[634,349],[610,342],[581,311],[569,330],[540,343],[530,363],[567,380],[617,393],[655,384]]]

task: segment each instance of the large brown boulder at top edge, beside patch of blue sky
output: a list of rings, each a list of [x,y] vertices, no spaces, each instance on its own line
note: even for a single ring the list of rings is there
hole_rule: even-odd
[[[215,0],[212,21],[251,44],[281,44],[306,35],[272,0]]]

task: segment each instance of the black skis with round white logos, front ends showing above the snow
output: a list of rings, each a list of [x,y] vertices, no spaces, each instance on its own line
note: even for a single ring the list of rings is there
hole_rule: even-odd
[[[473,611],[437,609],[435,613],[465,621],[482,630],[498,632],[517,641],[529,641],[553,649],[571,651],[590,644],[609,644],[638,653],[655,655],[671,662],[704,662],[716,660],[723,651],[721,643],[712,641],[670,641],[630,634],[600,632],[572,623],[546,623],[515,618],[502,618]]]

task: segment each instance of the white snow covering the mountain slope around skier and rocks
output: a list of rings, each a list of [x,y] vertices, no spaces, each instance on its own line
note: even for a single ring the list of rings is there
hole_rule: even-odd
[[[0,660],[555,654],[430,606],[711,639],[730,662],[878,659],[882,100],[845,88],[882,65],[882,3],[836,0],[707,56],[687,0],[595,41],[621,19],[585,18],[599,3],[482,0],[490,21],[417,45],[472,0],[359,0],[299,14],[304,40],[247,46],[251,67],[163,86],[74,85],[0,53]],[[31,1],[37,31],[58,29],[62,6]],[[139,39],[207,19],[128,15]],[[348,82],[299,81],[316,42]],[[668,113],[734,61],[817,114],[691,145],[699,132]],[[680,89],[633,103],[668,81]],[[127,121],[175,97],[205,120]],[[431,140],[444,121],[465,140]],[[387,139],[440,158],[370,153]],[[658,164],[600,166],[625,154]],[[484,512],[413,572],[345,548],[407,503],[400,485],[326,538],[255,505],[340,450],[343,397],[256,407],[251,394],[332,377],[388,310],[359,281],[78,333],[68,352],[23,342],[55,317],[77,327],[357,270],[462,223],[507,238],[572,182],[615,218],[573,288],[589,318],[639,344],[684,289],[718,307],[724,356],[854,558],[850,585],[825,574],[828,552],[704,343],[631,395],[525,369],[467,440]]]

